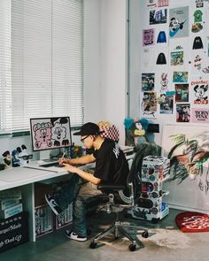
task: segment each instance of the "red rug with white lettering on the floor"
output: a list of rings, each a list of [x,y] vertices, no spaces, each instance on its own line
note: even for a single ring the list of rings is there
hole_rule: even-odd
[[[208,232],[209,215],[197,212],[182,212],[175,217],[176,224],[182,232]]]

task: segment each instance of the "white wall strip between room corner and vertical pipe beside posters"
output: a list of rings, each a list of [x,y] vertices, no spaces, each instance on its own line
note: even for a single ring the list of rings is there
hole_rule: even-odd
[[[127,92],[127,1],[101,0],[100,3],[101,119],[120,128],[120,143],[123,143]]]

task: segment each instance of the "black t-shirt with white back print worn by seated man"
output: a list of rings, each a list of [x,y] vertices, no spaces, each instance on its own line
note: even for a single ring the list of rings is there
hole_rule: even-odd
[[[128,161],[118,143],[104,139],[93,155],[96,157],[95,177],[104,183],[127,185]]]

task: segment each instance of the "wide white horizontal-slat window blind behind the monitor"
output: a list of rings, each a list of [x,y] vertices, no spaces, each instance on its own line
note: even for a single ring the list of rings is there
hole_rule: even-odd
[[[12,109],[1,130],[27,131],[30,118],[58,116],[81,126],[84,2],[11,0],[10,19]]]

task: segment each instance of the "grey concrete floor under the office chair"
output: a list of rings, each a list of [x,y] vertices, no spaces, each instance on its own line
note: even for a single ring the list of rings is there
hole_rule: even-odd
[[[64,229],[60,229],[36,242],[0,253],[0,261],[208,261],[209,233],[182,233],[174,221],[179,212],[170,210],[158,224],[126,218],[135,225],[149,228],[148,238],[137,235],[139,247],[135,252],[128,250],[127,239],[113,241],[112,236],[99,242],[97,249],[89,249],[91,238],[111,224],[112,214],[98,212],[88,219],[92,234],[87,242],[68,240],[63,235]]]

